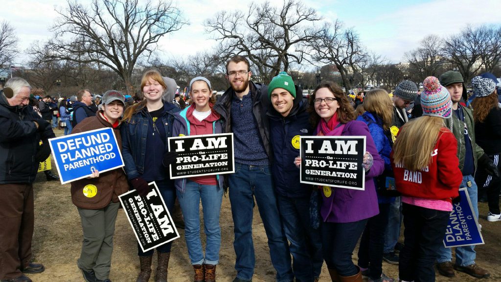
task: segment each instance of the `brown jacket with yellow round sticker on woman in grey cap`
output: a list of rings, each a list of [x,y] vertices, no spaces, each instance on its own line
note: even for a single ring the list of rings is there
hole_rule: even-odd
[[[87,117],[73,128],[72,133],[80,133],[99,128],[112,127],[105,120],[102,111],[96,116]],[[113,129],[118,148],[122,151],[120,126]],[[79,179],[71,183],[71,199],[75,206],[82,209],[97,210],[106,207],[111,201],[118,202],[118,196],[129,190],[127,177],[122,168],[100,173],[98,178]]]

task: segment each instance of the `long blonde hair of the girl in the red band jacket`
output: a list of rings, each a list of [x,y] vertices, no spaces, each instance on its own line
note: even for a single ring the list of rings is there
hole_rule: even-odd
[[[393,145],[395,164],[402,164],[410,171],[418,171],[431,162],[431,153],[444,127],[441,117],[423,115],[404,124]]]

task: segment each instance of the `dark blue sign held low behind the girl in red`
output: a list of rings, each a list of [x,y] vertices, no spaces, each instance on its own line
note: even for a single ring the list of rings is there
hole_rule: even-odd
[[[461,201],[452,204],[443,244],[446,248],[484,244],[466,188],[459,189]]]

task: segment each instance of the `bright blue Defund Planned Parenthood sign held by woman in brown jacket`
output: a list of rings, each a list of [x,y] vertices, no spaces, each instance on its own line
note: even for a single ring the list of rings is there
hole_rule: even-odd
[[[49,139],[61,184],[124,166],[110,127]]]

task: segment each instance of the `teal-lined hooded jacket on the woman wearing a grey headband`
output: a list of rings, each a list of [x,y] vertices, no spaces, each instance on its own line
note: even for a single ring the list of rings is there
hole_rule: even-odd
[[[190,122],[188,120],[188,117],[186,116],[186,113],[190,108],[191,107],[186,107],[182,111],[174,114],[175,119],[174,125],[172,126],[172,136],[176,137],[180,136],[181,134],[185,136],[190,135]],[[219,119],[212,121],[212,133],[222,133],[222,120]],[[216,175],[216,180],[219,188],[223,188],[224,178],[220,175]],[[177,190],[179,190],[179,192],[183,193],[184,188],[186,187],[186,178],[174,179],[174,186]]]

